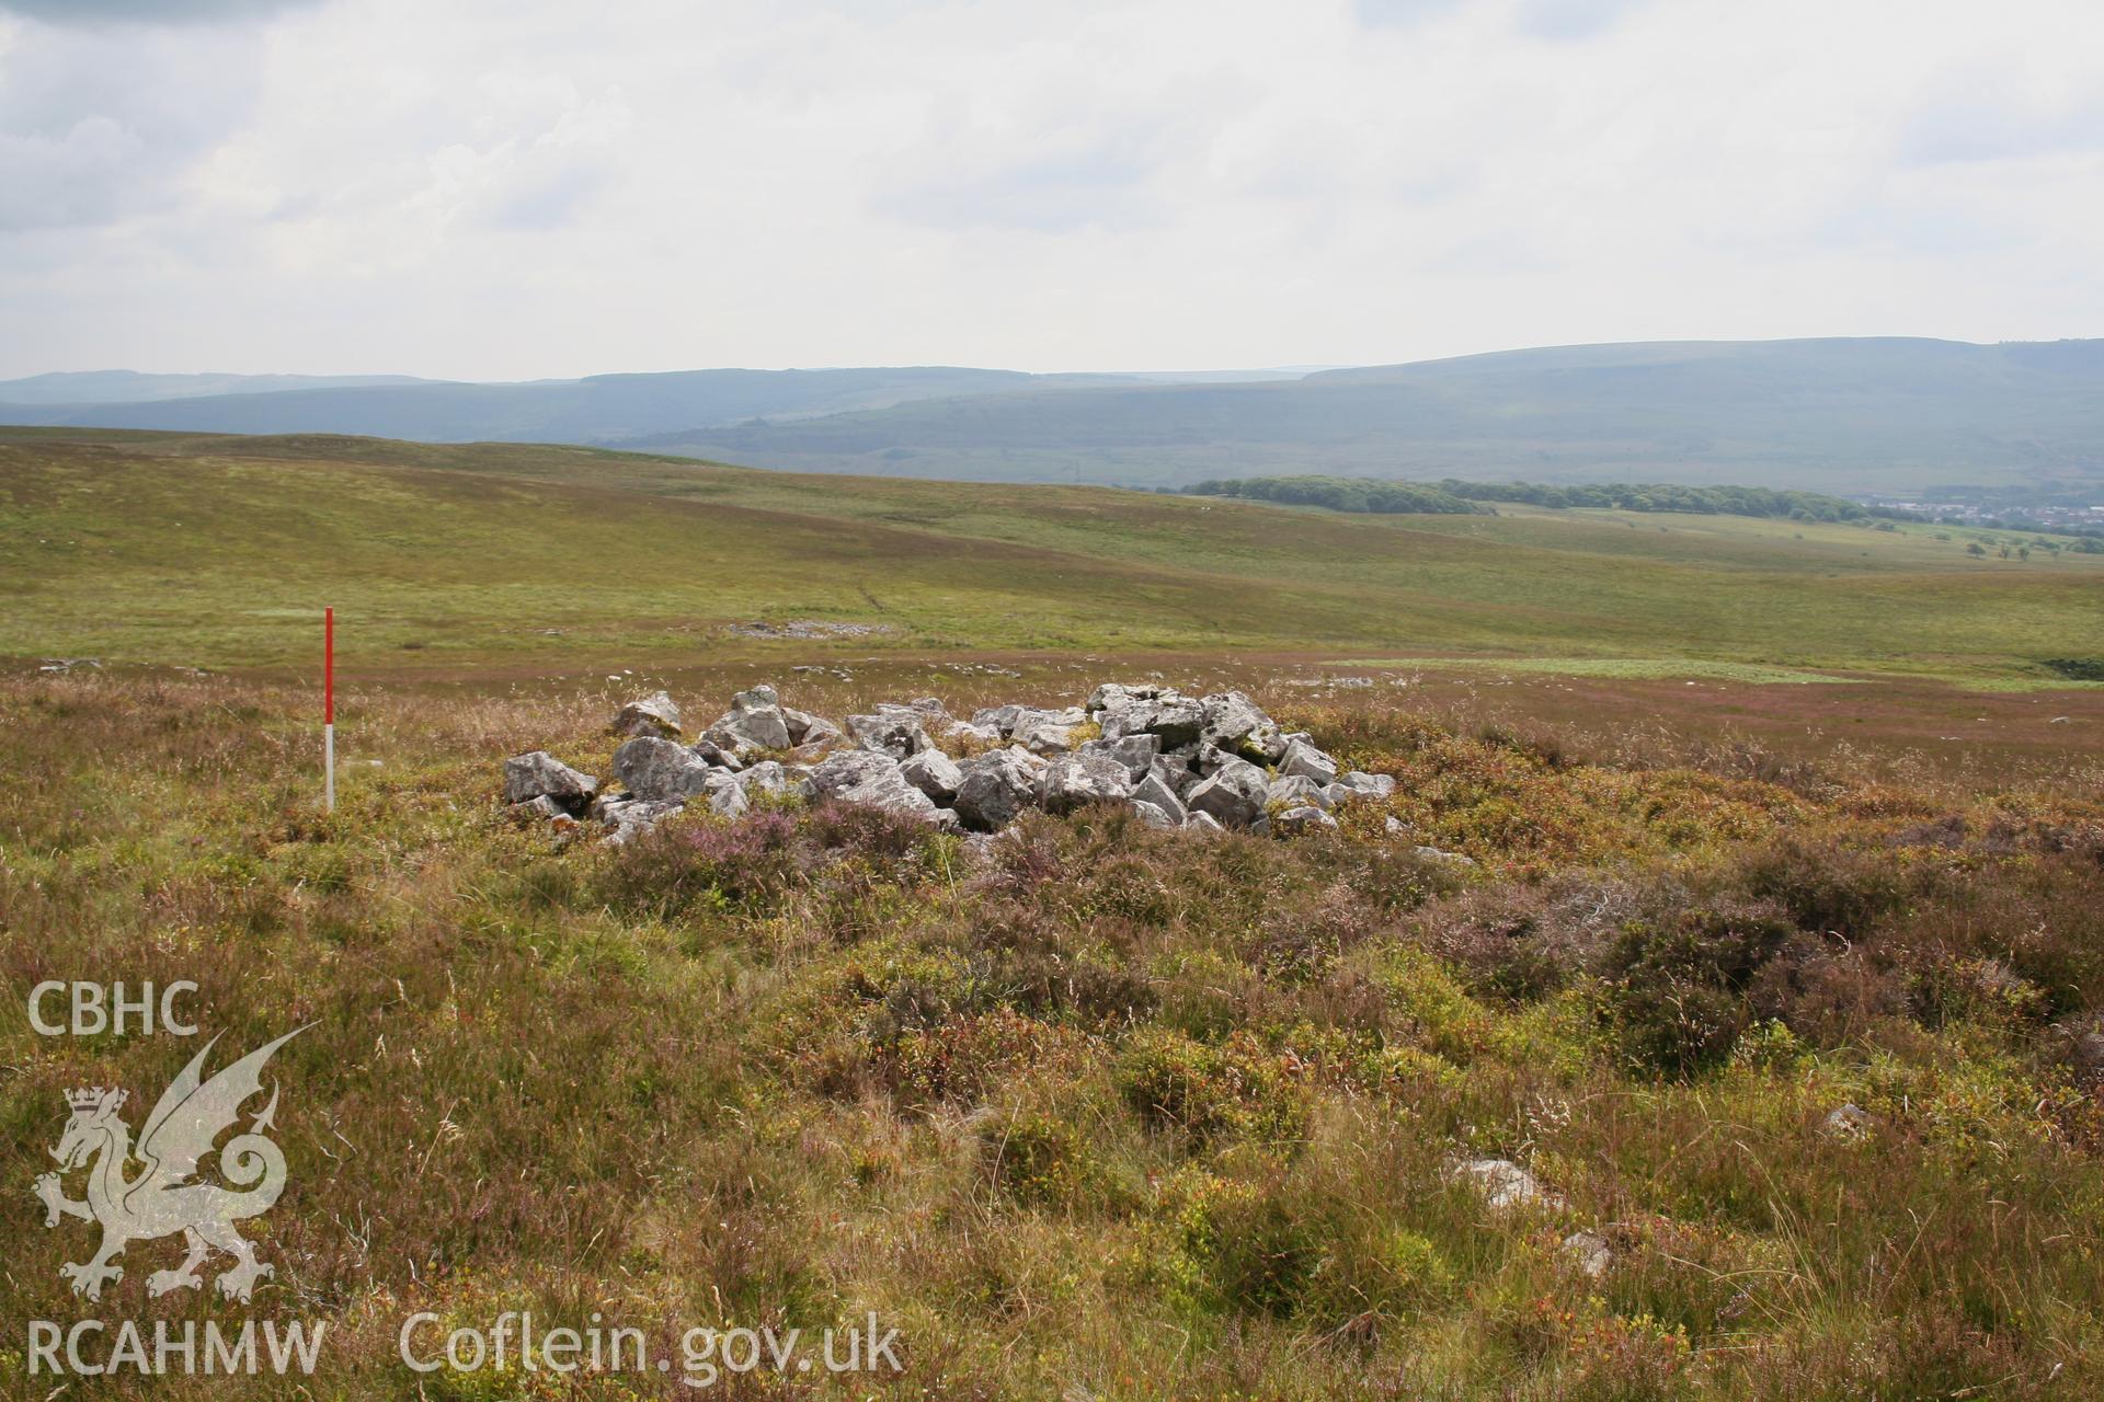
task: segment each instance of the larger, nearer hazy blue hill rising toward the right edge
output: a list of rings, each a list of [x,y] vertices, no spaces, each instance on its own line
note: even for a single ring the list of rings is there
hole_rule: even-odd
[[[2104,490],[2104,341],[1633,343],[1119,385],[656,435],[797,471],[1189,486],[1340,473],[1917,492]]]

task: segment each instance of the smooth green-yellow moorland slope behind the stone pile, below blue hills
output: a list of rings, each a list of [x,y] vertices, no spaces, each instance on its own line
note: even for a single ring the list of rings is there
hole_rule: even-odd
[[[2104,557],[1502,509],[1344,517],[537,446],[0,431],[0,654],[387,673],[835,652],[1687,660],[2011,683],[2104,637]],[[823,650],[825,645],[816,645]],[[797,643],[812,652],[814,643]]]

